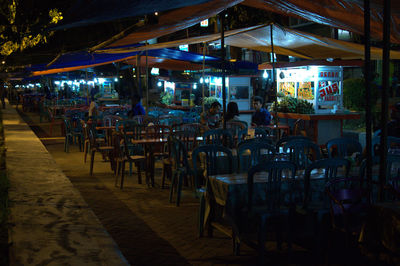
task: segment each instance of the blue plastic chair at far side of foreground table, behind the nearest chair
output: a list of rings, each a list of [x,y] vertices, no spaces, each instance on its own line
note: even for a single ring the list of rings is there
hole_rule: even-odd
[[[237,152],[238,173],[246,172],[250,167],[257,165],[262,160],[271,160],[274,156],[275,147],[269,141],[252,139],[251,141],[241,142],[238,145]]]

